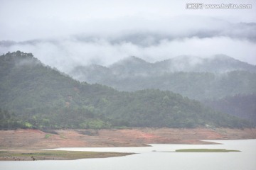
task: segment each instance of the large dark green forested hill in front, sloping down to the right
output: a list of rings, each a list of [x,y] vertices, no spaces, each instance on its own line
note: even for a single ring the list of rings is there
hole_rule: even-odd
[[[0,108],[1,128],[250,126],[170,91],[81,83],[19,51],[0,56]]]

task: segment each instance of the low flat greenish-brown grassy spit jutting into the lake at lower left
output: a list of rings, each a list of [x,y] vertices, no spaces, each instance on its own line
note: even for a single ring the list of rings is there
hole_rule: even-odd
[[[86,159],[86,158],[104,158],[104,157],[122,157],[129,153],[117,152],[81,152],[81,151],[0,151],[0,160],[49,160],[49,159]]]

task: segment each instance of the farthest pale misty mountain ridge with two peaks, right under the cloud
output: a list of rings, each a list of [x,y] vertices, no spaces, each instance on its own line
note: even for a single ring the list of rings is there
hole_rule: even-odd
[[[82,66],[80,66],[81,68]],[[85,66],[94,67],[92,66]],[[256,72],[256,66],[235,60],[227,55],[215,55],[210,58],[179,56],[169,60],[159,62],[146,62],[139,57],[127,57],[124,60],[115,62],[110,67],[105,67],[105,71],[115,75],[136,76],[147,74],[164,74],[171,72],[213,72],[223,73],[235,70]]]

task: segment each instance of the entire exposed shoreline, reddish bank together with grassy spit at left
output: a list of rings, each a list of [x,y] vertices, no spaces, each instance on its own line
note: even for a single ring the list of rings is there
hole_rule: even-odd
[[[150,144],[207,145],[212,140],[256,139],[256,129],[132,128],[122,130],[0,130],[0,161],[73,160],[122,157],[134,153],[64,152],[60,147],[149,147]],[[208,141],[211,140],[211,141]],[[149,145],[148,145],[149,144]]]

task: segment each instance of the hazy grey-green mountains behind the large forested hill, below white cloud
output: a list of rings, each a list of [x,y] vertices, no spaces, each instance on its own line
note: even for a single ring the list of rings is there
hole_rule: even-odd
[[[70,76],[119,91],[161,89],[197,100],[256,92],[256,67],[225,55],[181,56],[155,63],[128,57],[110,67],[75,67]]]

